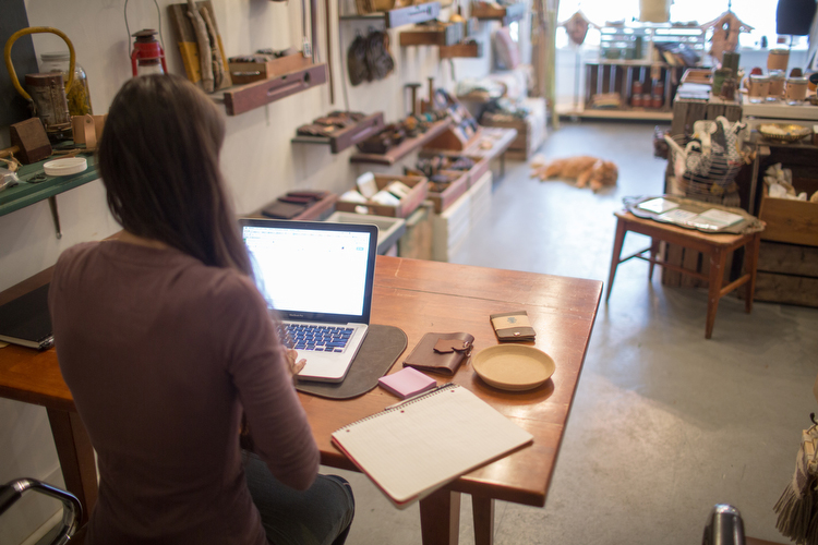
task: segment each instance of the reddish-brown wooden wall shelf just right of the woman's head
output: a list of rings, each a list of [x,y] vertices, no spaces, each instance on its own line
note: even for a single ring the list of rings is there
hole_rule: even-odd
[[[326,83],[326,64],[311,64],[282,75],[225,89],[228,116],[238,116]]]

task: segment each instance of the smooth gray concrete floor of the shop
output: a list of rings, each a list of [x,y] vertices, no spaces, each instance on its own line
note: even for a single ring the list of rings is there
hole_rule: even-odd
[[[613,159],[619,183],[593,194],[528,177],[509,162],[492,210],[454,262],[606,281],[622,198],[661,193],[652,125],[563,124],[541,153]],[[640,240],[641,239],[641,240]],[[628,234],[625,252],[646,247]],[[497,502],[495,543],[698,544],[711,507],[729,502],[747,535],[785,543],[772,506],[818,409],[818,311],[722,300],[705,340],[707,291],[664,288],[648,264],[619,266],[600,305],[544,508]],[[811,334],[809,332],[811,331]],[[546,334],[546,332],[543,332]],[[335,471],[337,470],[326,470]],[[363,475],[352,483],[347,543],[418,544],[417,506],[398,511]],[[473,543],[464,496],[460,543]]]

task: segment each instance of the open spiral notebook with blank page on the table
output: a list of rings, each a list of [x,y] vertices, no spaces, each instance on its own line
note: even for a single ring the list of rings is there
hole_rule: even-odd
[[[455,384],[333,434],[333,443],[399,509],[532,440],[531,434]]]

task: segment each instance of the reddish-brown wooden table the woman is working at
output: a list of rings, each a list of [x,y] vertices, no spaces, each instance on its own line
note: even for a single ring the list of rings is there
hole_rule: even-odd
[[[46,270],[0,293],[0,304],[44,284],[49,277],[50,270]],[[601,292],[602,283],[594,280],[377,257],[372,322],[404,329],[408,337],[405,354],[429,331],[468,331],[474,336],[476,350],[494,346],[497,340],[489,315],[525,310],[537,330],[534,346],[551,354],[557,366],[543,386],[516,393],[485,385],[470,364],[455,375],[453,382],[530,432],[534,441],[424,498],[420,502],[424,544],[457,543],[460,493],[472,495],[479,545],[492,543],[494,499],[539,507],[545,504]],[[89,511],[97,495],[93,449],[60,375],[56,352],[1,349],[0,396],[48,409],[65,486]],[[396,400],[381,388],[345,401],[299,396],[322,463],[349,470],[356,468],[330,444],[330,434]]]

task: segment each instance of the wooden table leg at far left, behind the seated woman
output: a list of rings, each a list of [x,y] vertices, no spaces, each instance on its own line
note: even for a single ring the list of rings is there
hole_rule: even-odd
[[[85,524],[97,501],[98,492],[97,465],[88,432],[75,412],[48,409],[48,421],[65,488],[80,499],[83,506],[81,524]]]

